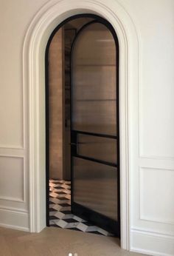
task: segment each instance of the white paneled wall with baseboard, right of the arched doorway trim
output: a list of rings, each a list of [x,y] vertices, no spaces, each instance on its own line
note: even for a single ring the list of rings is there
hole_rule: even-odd
[[[133,3],[132,3],[133,2]],[[140,44],[139,155],[131,248],[174,255],[174,1],[124,0]]]

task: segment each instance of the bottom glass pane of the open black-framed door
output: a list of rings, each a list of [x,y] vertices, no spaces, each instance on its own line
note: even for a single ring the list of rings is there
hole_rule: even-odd
[[[117,220],[116,167],[80,158],[74,161],[74,202]]]

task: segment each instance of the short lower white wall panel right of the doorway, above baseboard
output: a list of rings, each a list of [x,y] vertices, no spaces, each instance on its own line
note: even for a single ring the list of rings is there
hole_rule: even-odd
[[[174,170],[139,169],[141,220],[174,224]]]

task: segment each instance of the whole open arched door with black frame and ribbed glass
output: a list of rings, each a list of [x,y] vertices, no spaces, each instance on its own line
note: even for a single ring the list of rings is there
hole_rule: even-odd
[[[100,21],[72,48],[72,212],[119,235],[119,115],[116,38]]]

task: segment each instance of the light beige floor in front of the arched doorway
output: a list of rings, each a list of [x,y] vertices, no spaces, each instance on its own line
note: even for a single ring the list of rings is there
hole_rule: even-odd
[[[140,256],[119,247],[119,239],[48,227],[40,233],[0,227],[1,256]]]

